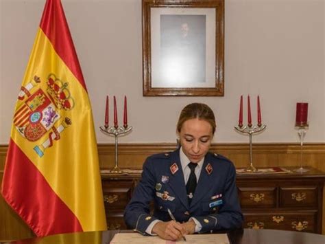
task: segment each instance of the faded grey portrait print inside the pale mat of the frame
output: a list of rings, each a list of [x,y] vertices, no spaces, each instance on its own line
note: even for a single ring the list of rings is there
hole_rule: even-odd
[[[206,16],[160,15],[160,77],[172,87],[206,81]]]

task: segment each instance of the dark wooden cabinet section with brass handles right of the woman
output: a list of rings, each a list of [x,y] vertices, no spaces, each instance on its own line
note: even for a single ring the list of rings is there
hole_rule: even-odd
[[[322,233],[325,174],[237,175],[243,228]]]

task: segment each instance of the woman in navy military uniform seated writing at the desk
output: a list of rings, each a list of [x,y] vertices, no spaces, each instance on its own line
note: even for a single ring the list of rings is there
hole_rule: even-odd
[[[125,208],[130,228],[177,240],[185,234],[241,227],[234,165],[209,152],[215,129],[215,115],[206,104],[182,109],[177,124],[180,148],[145,160],[141,181]]]

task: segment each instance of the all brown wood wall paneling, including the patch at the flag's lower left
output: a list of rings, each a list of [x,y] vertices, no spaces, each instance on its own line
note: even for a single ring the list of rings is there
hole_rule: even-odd
[[[146,157],[154,153],[173,151],[176,144],[120,144],[120,168],[142,168]],[[0,146],[0,180],[2,182],[5,155],[8,146]],[[213,144],[211,151],[228,157],[237,168],[246,167],[250,162],[248,144]],[[115,145],[99,144],[99,164],[101,170],[115,165]],[[306,144],[303,148],[304,165],[325,172],[325,144]],[[298,144],[255,144],[253,164],[258,167],[298,166],[300,164],[300,145]],[[23,186],[22,186],[23,187]],[[323,204],[324,206],[324,204]],[[323,208],[325,213],[325,208]],[[323,214],[323,234],[325,233]],[[0,240],[23,239],[33,236],[31,230],[19,219],[15,212],[0,197]]]

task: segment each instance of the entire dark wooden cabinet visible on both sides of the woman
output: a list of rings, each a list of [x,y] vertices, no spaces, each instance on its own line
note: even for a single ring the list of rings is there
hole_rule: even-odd
[[[125,229],[123,211],[141,173],[101,173],[108,230]],[[325,173],[237,175],[243,228],[322,233]]]

